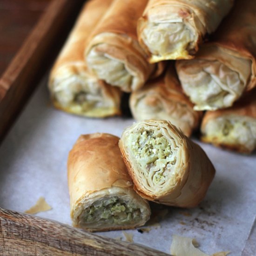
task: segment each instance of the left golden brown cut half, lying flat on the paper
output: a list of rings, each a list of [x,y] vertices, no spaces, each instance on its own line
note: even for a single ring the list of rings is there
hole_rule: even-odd
[[[118,141],[109,134],[81,135],[70,151],[68,187],[75,227],[132,229],[149,219],[148,202],[132,188]]]

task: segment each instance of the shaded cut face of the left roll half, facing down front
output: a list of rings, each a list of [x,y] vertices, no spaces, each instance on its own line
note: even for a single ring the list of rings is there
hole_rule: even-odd
[[[102,189],[96,195],[86,199],[85,208],[80,209],[78,224],[86,229],[125,229],[147,220],[148,213],[141,207],[143,199],[132,188],[112,187]],[[145,202],[143,201],[145,204]],[[82,207],[82,206],[81,206]]]

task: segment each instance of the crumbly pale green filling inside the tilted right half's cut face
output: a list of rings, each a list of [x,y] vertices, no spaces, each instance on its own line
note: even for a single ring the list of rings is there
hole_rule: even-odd
[[[130,134],[129,141],[136,161],[154,184],[165,182],[171,168],[176,163],[173,149],[167,139],[156,131],[143,131]]]

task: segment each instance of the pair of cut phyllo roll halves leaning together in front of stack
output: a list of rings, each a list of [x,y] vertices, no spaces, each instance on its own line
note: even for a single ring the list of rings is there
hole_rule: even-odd
[[[81,135],[67,161],[71,219],[89,231],[134,229],[150,217],[147,200],[196,207],[215,168],[202,148],[169,121],[141,121],[119,140]]]

